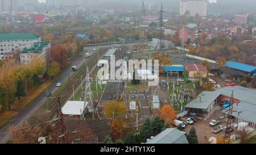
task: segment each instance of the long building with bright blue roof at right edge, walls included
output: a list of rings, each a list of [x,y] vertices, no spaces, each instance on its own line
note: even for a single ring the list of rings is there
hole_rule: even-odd
[[[241,62],[228,61],[226,63],[226,68],[236,70],[236,71],[246,74],[250,77],[254,77],[256,74],[256,66],[242,64]]]

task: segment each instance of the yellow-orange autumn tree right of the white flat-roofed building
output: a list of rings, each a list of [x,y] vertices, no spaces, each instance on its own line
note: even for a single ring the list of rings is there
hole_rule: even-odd
[[[114,102],[107,102],[104,104],[103,112],[106,116],[106,118],[113,119],[113,113],[114,118],[123,118],[125,115],[125,105],[120,102],[118,103],[117,100],[114,100]]]

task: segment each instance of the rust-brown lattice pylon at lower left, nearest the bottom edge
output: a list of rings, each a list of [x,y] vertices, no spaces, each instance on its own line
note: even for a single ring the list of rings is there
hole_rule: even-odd
[[[62,110],[60,107],[60,97],[58,97],[58,108],[56,110],[57,120],[55,123],[55,144],[67,144],[69,142],[69,136],[66,132]]]

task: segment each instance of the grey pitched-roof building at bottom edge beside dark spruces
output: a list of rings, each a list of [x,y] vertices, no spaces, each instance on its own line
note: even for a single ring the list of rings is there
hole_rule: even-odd
[[[145,144],[188,144],[185,132],[177,128],[167,128],[156,136],[151,136]]]

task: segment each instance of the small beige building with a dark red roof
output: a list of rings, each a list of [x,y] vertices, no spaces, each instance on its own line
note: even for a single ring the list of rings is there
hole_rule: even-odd
[[[195,79],[201,76],[201,78],[207,77],[207,68],[202,64],[187,64],[185,70],[188,71],[188,78]]]

